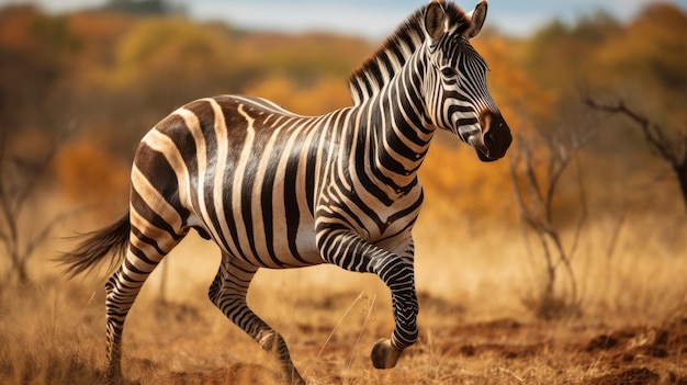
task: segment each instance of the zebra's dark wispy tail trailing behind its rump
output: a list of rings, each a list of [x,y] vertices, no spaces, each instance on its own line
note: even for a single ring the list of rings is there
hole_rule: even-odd
[[[113,251],[114,258],[110,260],[110,270],[122,262],[128,245],[131,223],[128,210],[113,224],[99,230],[76,236],[81,239],[77,248],[58,258],[58,262],[65,267],[65,273],[69,278],[95,268],[105,260],[105,256]]]

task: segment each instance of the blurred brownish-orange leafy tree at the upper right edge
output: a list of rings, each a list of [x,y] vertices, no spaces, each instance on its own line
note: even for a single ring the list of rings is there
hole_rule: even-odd
[[[682,189],[687,208],[687,11],[675,4],[652,3],[622,33],[597,48],[595,61],[604,78],[582,102],[596,111],[621,115],[640,129],[627,129],[627,121],[608,120],[616,147],[635,137],[667,162]],[[600,97],[607,95],[607,97]],[[610,100],[610,102],[607,102]],[[622,132],[622,135],[617,133]],[[633,133],[634,132],[634,133]],[[635,147],[645,149],[645,147]],[[627,146],[626,146],[627,147]],[[639,157],[646,151],[635,151]],[[645,172],[654,174],[662,170]],[[675,194],[675,196],[679,196]]]

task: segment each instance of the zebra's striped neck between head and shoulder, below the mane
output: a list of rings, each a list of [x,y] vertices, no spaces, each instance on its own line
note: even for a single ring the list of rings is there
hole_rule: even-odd
[[[403,195],[417,184],[417,171],[435,132],[423,99],[421,53],[413,55],[380,92],[360,105],[360,124],[369,135],[365,160],[388,195]]]

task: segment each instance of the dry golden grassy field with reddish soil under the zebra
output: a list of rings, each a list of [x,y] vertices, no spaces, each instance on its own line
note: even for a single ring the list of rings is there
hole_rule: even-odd
[[[536,239],[439,230],[431,218],[416,231],[420,341],[393,370],[369,359],[393,328],[379,279],[333,267],[258,273],[249,303],[312,384],[687,384],[679,215],[586,226],[573,261],[578,312],[555,320],[532,312],[543,282]],[[206,298],[218,259],[192,236],[151,275],[125,328],[128,382],[279,383],[275,362]],[[102,383],[104,275],[65,281],[46,260],[32,271],[29,285],[1,287],[0,384]]]

